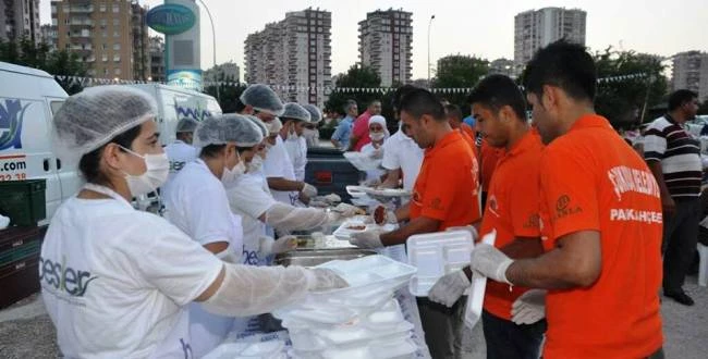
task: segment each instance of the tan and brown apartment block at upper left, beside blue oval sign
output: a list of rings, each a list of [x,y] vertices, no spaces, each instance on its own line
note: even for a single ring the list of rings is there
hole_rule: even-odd
[[[136,0],[51,2],[57,47],[76,53],[95,77],[147,79],[149,42],[144,17]]]

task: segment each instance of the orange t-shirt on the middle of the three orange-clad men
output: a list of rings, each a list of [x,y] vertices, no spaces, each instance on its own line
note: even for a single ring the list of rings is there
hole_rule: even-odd
[[[497,163],[479,228],[481,235],[497,230],[497,248],[504,247],[518,237],[540,237],[538,181],[542,149],[540,137],[528,132]],[[526,287],[511,286],[510,292],[510,285],[489,281],[485,310],[511,320],[512,304],[526,290]]]

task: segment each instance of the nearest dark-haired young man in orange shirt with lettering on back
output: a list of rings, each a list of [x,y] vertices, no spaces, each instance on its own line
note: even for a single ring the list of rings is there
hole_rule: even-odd
[[[480,244],[471,265],[499,283],[548,290],[545,308],[528,296],[536,290],[517,300],[522,311],[546,314],[544,358],[663,358],[660,190],[644,160],[595,114],[596,83],[581,45],[551,44],[528,63],[524,87],[546,144],[546,252],[511,259]]]

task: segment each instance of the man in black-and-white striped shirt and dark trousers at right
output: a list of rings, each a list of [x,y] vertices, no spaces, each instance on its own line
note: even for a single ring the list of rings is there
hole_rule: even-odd
[[[698,111],[698,95],[680,89],[669,97],[669,112],[655,120],[644,137],[644,158],[659,183],[663,207],[663,295],[684,306],[683,290],[698,240],[700,221],[700,144],[683,125]]]

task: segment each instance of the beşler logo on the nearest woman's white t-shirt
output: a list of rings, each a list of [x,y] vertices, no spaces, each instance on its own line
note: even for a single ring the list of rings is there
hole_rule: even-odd
[[[39,282],[54,294],[65,293],[72,297],[83,297],[91,281],[97,278],[90,272],[66,265],[66,257],[61,262],[39,258]]]

